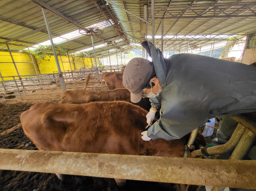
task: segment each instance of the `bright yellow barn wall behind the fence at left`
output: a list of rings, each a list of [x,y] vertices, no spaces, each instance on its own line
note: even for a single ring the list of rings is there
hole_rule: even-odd
[[[12,55],[15,62],[32,62],[31,57],[28,54],[12,52]],[[72,62],[73,61],[72,57],[70,57],[69,59],[71,62],[71,68],[72,70],[74,70],[75,65],[74,65],[74,62]],[[69,59],[67,56],[61,56],[61,58],[58,56],[61,70],[70,70]],[[99,59],[96,59],[96,61],[97,61],[97,64],[99,64]],[[0,52],[0,62],[12,62],[9,52]],[[93,63],[94,65],[94,59],[92,59],[92,62],[91,62],[90,58],[84,58],[84,63],[83,63],[83,58],[76,57],[76,65],[78,69],[84,66],[92,67],[91,63]],[[37,62],[37,64],[39,66],[39,70],[41,74],[49,74],[49,73],[53,73],[53,71],[58,71],[54,56],[50,56],[50,58],[47,57],[45,60],[40,60]],[[20,75],[36,74],[33,63],[16,63],[16,66],[18,68]],[[13,63],[0,63],[0,72],[2,76],[17,75],[16,69]],[[37,70],[37,73],[39,74],[38,70]],[[12,78],[4,78],[4,80],[10,80],[10,79]],[[0,81],[2,81],[1,78],[0,78]]]

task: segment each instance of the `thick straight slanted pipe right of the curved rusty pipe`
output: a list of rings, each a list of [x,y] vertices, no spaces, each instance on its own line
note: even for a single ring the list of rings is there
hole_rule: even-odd
[[[255,138],[256,134],[246,129],[229,160],[243,160],[244,156],[247,155],[251,149]]]

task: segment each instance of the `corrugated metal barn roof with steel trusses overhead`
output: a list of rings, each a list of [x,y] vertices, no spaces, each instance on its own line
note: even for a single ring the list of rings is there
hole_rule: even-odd
[[[35,2],[39,0],[1,0],[0,1],[0,42],[33,46],[49,40],[41,7]],[[104,29],[104,33],[94,36],[94,46],[104,42],[124,39],[122,46],[127,49],[140,48],[145,40],[146,24],[127,14],[114,5],[107,5],[103,0],[41,0],[46,5],[59,11],[69,19],[84,27],[98,22],[112,20],[114,26]],[[133,14],[144,18],[144,5],[151,11],[151,0],[110,0]],[[232,6],[231,6],[232,5]],[[100,9],[99,7],[100,6]],[[168,7],[168,8],[167,8]],[[45,9],[53,37],[76,31],[78,27]],[[165,50],[185,48],[189,45],[207,45],[221,41],[216,35],[246,35],[256,32],[255,0],[155,0],[155,35],[161,34],[161,19],[164,18],[163,33],[165,36],[178,35],[184,38],[164,38]],[[106,17],[105,17],[106,15]],[[151,14],[149,14],[151,22]],[[40,29],[41,28],[41,29]],[[151,35],[151,25],[147,24],[147,34]],[[202,39],[194,36],[201,36]],[[205,37],[211,35],[211,37]],[[102,40],[103,39],[103,40]],[[149,38],[149,40],[151,40]],[[130,44],[131,43],[131,44]],[[155,46],[160,46],[160,38],[155,39]],[[61,42],[69,52],[81,51],[92,47],[90,36],[81,36]],[[118,43],[119,45],[119,43]],[[121,46],[120,45],[120,46]],[[9,45],[12,51],[24,47]],[[116,46],[116,45],[115,45]],[[115,48],[115,46],[110,46]],[[7,50],[0,44],[0,50]],[[98,56],[107,56],[106,46],[98,48]],[[118,51],[126,51],[118,50]],[[90,51],[89,51],[90,52]],[[91,52],[90,52],[91,53]],[[110,54],[114,54],[111,51]]]

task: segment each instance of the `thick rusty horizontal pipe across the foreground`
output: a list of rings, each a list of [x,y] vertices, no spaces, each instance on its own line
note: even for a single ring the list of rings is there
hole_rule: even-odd
[[[256,161],[0,149],[0,169],[233,188],[256,187]],[[200,176],[200,178],[198,178]]]

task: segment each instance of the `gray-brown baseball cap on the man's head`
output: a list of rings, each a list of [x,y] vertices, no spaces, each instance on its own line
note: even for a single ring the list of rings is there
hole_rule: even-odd
[[[143,87],[154,71],[153,62],[142,58],[133,58],[124,69],[123,85],[131,92],[131,102],[141,101]]]

